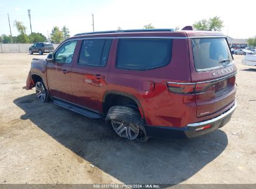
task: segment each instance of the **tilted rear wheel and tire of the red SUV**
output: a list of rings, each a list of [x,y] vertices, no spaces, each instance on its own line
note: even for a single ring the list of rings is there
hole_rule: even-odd
[[[116,134],[128,140],[145,142],[148,140],[140,112],[126,106],[112,106],[105,118]]]

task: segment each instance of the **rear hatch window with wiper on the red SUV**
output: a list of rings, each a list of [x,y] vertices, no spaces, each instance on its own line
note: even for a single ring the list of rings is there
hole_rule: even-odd
[[[225,38],[192,39],[194,65],[197,71],[211,71],[232,63]]]

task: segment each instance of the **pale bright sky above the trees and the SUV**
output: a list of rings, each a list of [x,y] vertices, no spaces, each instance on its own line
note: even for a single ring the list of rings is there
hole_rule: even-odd
[[[233,38],[248,39],[256,35],[256,1],[201,1],[201,0],[0,0],[0,35],[18,32],[14,21],[21,21],[30,34],[27,9],[31,9],[32,32],[46,37],[56,25],[66,25],[70,35],[92,32],[92,14],[95,31],[141,29],[151,23],[156,28],[182,29],[201,19],[219,16],[224,21],[222,32]]]

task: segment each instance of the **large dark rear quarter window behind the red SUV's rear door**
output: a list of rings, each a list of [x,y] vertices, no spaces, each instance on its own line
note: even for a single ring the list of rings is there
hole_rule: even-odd
[[[171,60],[172,39],[120,39],[117,68],[148,70],[163,67]]]

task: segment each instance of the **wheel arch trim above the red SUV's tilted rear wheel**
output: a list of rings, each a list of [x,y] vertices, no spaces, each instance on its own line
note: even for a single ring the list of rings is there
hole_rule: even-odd
[[[103,113],[107,113],[108,109],[111,107],[108,107],[108,104],[107,104],[107,101],[108,101],[108,98],[111,96],[111,95],[115,95],[115,96],[123,96],[125,98],[130,98],[131,100],[133,100],[136,105],[138,106],[138,109],[140,111],[140,114],[141,114],[141,118],[142,119],[145,119],[145,114],[143,112],[143,108],[141,106],[141,103],[140,103],[140,100],[138,98],[136,98],[133,94],[129,94],[129,93],[124,93],[124,92],[120,92],[120,91],[114,91],[114,90],[111,90],[111,91],[107,91],[104,96],[103,96],[103,100],[102,100],[102,109],[103,109]]]

